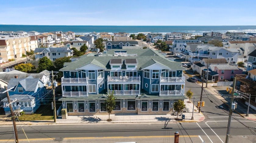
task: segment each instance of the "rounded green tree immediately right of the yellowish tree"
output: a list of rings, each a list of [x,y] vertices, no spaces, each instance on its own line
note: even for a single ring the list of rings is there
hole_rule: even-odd
[[[53,68],[54,67],[53,67],[52,61],[49,58],[43,57],[39,59],[38,68],[37,68],[38,73],[44,70],[51,71]]]

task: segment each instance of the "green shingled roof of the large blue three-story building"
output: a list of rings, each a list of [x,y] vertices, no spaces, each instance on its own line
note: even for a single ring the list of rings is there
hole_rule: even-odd
[[[109,65],[110,59],[122,59],[124,61],[125,59],[134,58],[138,61],[137,70],[146,68],[155,63],[168,67],[172,70],[185,70],[183,67],[180,66],[181,62],[172,62],[171,60],[165,58],[164,55],[152,49],[126,49],[122,51],[127,51],[127,54],[137,54],[137,56],[81,56],[81,58],[73,62],[65,63],[65,67],[60,69],[60,71],[75,70],[90,63],[104,69],[111,69]],[[110,54],[111,52],[114,55],[114,50],[110,50],[108,54]],[[123,69],[124,67],[125,66],[122,66]]]

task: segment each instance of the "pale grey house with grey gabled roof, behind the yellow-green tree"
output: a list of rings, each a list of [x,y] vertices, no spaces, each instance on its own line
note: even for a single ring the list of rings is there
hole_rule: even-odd
[[[57,58],[73,56],[73,50],[69,48],[36,48],[34,53],[36,53],[36,60],[47,57],[51,61],[55,61]]]

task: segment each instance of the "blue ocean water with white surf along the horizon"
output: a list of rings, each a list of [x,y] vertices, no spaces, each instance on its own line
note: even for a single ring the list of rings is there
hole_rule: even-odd
[[[186,32],[193,34],[202,34],[204,32],[254,32],[256,25],[252,26],[90,26],[90,25],[0,25],[0,31],[73,31],[75,33],[89,32],[128,32],[128,33],[147,33],[147,32]]]

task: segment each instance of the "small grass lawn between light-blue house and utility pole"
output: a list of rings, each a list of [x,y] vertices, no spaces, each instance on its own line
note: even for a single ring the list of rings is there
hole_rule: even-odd
[[[22,115],[19,117],[20,121],[35,121],[35,120],[53,120],[53,110],[52,105],[41,105],[36,113],[33,115]]]

